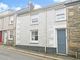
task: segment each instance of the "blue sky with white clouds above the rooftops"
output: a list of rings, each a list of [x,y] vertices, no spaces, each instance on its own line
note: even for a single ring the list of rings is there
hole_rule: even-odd
[[[0,12],[8,9],[20,10],[25,8],[30,0],[0,0]],[[41,8],[57,2],[63,2],[65,0],[31,0],[35,5],[35,9]]]

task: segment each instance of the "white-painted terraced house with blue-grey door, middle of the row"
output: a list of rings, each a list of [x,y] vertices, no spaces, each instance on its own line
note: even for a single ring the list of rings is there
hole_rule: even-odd
[[[16,46],[38,52],[68,54],[64,3],[17,13]]]

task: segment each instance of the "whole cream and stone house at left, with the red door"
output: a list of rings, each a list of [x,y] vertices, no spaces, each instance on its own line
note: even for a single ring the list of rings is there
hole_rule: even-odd
[[[14,11],[0,13],[0,44],[13,45],[15,31]]]

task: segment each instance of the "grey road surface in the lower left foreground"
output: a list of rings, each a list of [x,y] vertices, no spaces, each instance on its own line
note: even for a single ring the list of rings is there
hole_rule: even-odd
[[[20,52],[9,51],[6,48],[0,48],[0,60],[51,60],[29,54],[21,54]]]

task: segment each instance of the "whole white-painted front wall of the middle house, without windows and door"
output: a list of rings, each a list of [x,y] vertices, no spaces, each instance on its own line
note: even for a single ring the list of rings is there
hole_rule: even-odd
[[[45,47],[47,41],[47,47],[57,48],[56,29],[66,28],[66,20],[56,21],[55,9],[48,9],[47,11],[38,12],[38,16],[39,16],[39,22],[37,25],[31,24],[31,19],[29,14],[17,16],[16,45]],[[39,40],[37,43],[31,41],[31,30],[35,29],[38,29],[39,32]]]

